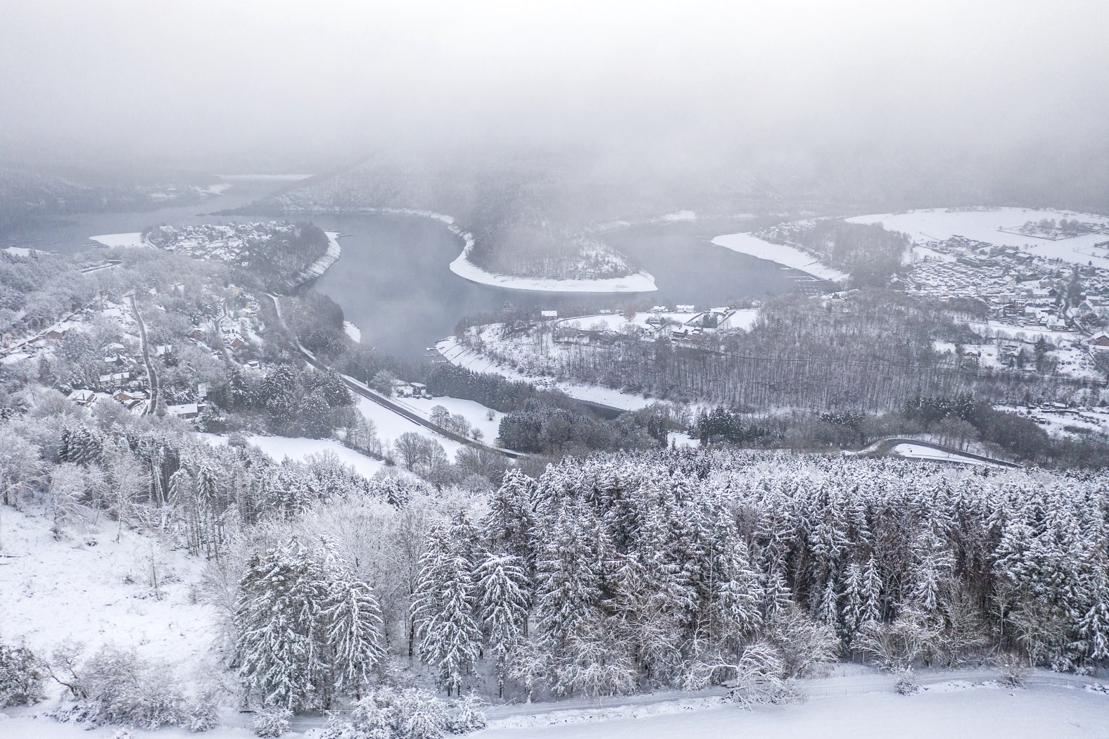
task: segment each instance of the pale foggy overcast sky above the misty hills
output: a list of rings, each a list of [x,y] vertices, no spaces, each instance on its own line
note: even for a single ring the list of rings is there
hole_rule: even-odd
[[[4,0],[0,146],[337,162],[506,140],[1105,139],[1107,6]]]

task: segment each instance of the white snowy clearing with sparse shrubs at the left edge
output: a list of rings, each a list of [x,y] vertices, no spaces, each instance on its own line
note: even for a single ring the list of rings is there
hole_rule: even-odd
[[[191,597],[203,561],[126,527],[116,541],[118,525],[104,514],[60,540],[50,527],[41,516],[0,510],[0,637],[43,656],[70,638],[89,651],[133,646],[180,665],[182,677],[207,658],[210,614]],[[0,722],[0,737],[18,736],[30,735],[7,733]]]

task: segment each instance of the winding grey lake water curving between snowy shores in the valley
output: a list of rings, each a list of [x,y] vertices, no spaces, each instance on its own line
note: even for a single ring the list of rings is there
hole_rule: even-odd
[[[89,236],[103,233],[130,233],[161,223],[190,225],[242,221],[251,216],[203,213],[245,205],[283,184],[235,181],[223,195],[201,205],[145,213],[77,215],[20,233],[0,234],[0,244],[20,243],[49,251],[74,252],[90,247]],[[449,267],[462,247],[461,240],[442,223],[426,217],[316,213],[312,220],[324,229],[345,234],[339,239],[343,256],[314,286],[343,306],[347,320],[362,331],[363,344],[407,360],[426,356],[427,347],[455,332],[459,317],[497,311],[506,302],[558,310],[566,315],[568,308],[581,307],[673,307],[676,303],[708,307],[812,286],[812,283],[798,283],[797,273],[772,262],[709,243],[712,236],[761,225],[750,220],[679,221],[603,234],[603,241],[654,275],[659,291],[639,294],[543,293],[471,283]]]

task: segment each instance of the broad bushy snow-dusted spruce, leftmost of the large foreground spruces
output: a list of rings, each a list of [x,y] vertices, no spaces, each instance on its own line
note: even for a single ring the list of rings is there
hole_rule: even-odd
[[[238,674],[247,696],[292,711],[326,708],[326,573],[298,543],[254,555],[240,580],[235,607]]]

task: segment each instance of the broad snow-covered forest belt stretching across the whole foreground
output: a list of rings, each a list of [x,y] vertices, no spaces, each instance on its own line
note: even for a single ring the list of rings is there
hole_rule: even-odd
[[[652,452],[433,486],[164,432],[98,446],[52,408],[6,422],[3,505],[49,517],[59,545],[100,517],[205,563],[223,671],[181,684],[120,647],[31,654],[4,632],[6,700],[51,676],[63,720],[208,726],[245,702],[279,725],[354,706],[327,736],[360,737],[397,706],[477,728],[472,697],[726,685],[781,703],[837,660],[912,684],[925,666],[1019,677],[1109,658],[1101,474]]]

